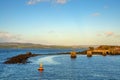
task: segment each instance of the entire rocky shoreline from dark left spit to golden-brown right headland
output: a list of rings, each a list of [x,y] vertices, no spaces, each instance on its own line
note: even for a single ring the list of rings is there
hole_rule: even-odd
[[[28,63],[27,59],[30,57],[41,56],[41,55],[64,55],[68,54],[71,58],[77,58],[77,55],[86,55],[87,57],[92,57],[92,55],[120,55],[120,46],[99,46],[97,48],[89,47],[88,50],[82,52],[65,52],[65,53],[53,53],[53,54],[32,54],[31,52],[27,52],[26,54],[20,54],[17,56],[13,56],[8,58],[4,62],[4,64],[17,64],[17,63]]]

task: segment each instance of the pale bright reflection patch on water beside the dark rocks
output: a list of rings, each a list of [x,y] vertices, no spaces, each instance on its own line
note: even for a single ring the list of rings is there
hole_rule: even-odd
[[[49,64],[60,64],[59,62],[55,61],[54,58],[57,56],[47,56],[47,57],[41,57],[38,58],[37,60],[30,60],[33,64],[40,64],[43,63],[44,65],[49,65]]]

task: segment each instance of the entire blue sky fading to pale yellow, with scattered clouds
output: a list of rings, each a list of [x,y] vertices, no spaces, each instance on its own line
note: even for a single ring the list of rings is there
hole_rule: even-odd
[[[120,0],[0,0],[0,42],[120,45]]]

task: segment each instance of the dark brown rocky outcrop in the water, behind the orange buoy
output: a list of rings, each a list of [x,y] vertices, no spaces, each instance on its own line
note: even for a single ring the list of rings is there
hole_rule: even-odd
[[[31,52],[27,52],[26,54],[20,54],[20,55],[9,58],[7,61],[4,62],[4,64],[17,64],[17,63],[25,64],[27,63],[27,59],[29,57],[34,57],[37,55],[38,54],[32,54]]]

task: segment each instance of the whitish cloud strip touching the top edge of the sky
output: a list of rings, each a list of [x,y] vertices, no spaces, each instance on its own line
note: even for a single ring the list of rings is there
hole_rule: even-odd
[[[68,2],[68,0],[28,0],[27,4],[34,5],[34,4],[41,3],[41,2],[54,2],[57,4],[65,4]]]

